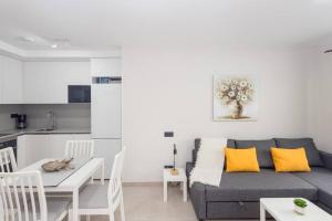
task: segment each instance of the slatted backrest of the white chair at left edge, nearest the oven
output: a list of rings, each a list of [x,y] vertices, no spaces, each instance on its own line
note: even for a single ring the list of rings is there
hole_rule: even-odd
[[[12,147],[0,149],[0,172],[14,172],[18,170]]]

